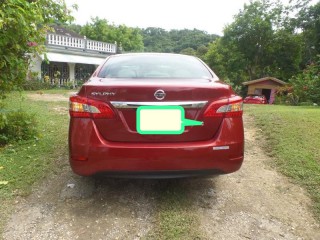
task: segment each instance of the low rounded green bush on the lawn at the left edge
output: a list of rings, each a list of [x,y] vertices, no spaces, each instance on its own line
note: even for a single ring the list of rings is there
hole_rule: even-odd
[[[0,145],[32,139],[37,133],[34,115],[24,111],[0,112]]]

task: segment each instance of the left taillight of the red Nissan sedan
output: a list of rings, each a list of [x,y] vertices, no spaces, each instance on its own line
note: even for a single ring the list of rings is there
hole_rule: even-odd
[[[114,118],[114,112],[107,103],[86,97],[71,96],[69,113],[74,118]]]

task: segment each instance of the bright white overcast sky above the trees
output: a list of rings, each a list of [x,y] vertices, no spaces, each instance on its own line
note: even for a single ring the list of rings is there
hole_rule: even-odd
[[[226,24],[250,0],[66,0],[78,5],[76,23],[84,25],[91,17],[105,18],[128,27],[159,27],[204,30],[222,35]]]

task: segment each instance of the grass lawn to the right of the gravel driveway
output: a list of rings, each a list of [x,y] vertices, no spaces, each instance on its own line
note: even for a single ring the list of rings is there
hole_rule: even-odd
[[[304,187],[320,220],[320,107],[245,105],[280,172]]]

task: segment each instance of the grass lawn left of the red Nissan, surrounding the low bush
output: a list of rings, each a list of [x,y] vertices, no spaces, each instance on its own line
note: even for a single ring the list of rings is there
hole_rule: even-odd
[[[58,171],[60,156],[67,159],[68,102],[35,101],[26,94],[11,93],[5,100],[6,109],[35,114],[39,136],[0,148],[0,202],[6,203],[0,204],[0,215],[8,213],[16,196],[28,195],[34,183],[50,171]],[[0,218],[0,232],[4,220]]]

